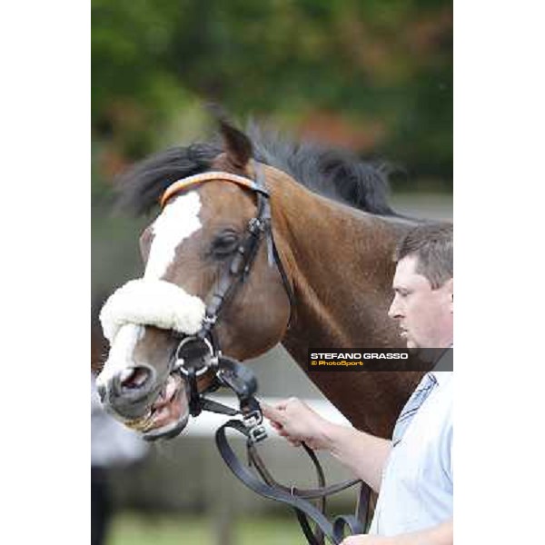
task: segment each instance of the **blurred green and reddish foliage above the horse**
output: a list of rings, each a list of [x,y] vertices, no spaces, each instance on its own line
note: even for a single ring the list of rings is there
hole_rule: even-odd
[[[125,157],[214,101],[296,131],[325,114],[357,151],[451,177],[449,1],[93,0],[92,21],[94,138]]]

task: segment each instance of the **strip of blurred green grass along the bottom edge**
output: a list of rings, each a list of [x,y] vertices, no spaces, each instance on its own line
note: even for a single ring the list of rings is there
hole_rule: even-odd
[[[244,517],[234,522],[233,545],[300,545],[293,518]],[[212,517],[145,516],[123,513],[114,518],[107,545],[220,545]]]

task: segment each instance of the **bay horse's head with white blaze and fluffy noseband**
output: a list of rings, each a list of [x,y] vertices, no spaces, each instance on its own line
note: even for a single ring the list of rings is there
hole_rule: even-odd
[[[188,421],[190,384],[173,366],[184,339],[194,349],[210,338],[206,345],[243,361],[280,342],[290,320],[290,281],[271,248],[270,217],[260,216],[266,188],[254,182],[275,169],[253,161],[245,134],[223,120],[220,128],[223,150],[208,149],[205,160],[179,158],[164,179],[153,160],[125,175],[129,184],[159,180],[162,211],[140,237],[143,278],[114,292],[101,313],[110,351],[97,389],[105,408],[144,437],[175,435]],[[264,228],[251,233],[257,217]],[[252,245],[256,235],[261,242]],[[184,356],[206,357],[190,352]],[[204,372],[196,384],[205,391],[212,382]]]

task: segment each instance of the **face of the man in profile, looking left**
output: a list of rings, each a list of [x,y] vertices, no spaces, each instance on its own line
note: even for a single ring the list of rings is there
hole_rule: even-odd
[[[399,323],[407,348],[446,348],[453,337],[453,280],[434,290],[416,272],[417,263],[414,255],[398,262],[388,315]]]

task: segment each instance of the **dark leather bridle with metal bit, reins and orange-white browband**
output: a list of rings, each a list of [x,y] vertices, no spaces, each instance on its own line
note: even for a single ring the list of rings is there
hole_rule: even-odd
[[[253,162],[253,167],[255,181],[233,173],[207,172],[174,182],[163,193],[161,198],[162,207],[174,195],[186,191],[196,184],[209,181],[224,181],[236,183],[244,189],[252,191],[257,197],[257,213],[248,222],[243,241],[239,244],[231,262],[226,263],[224,266],[220,279],[213,288],[213,294],[209,297],[206,306],[201,330],[195,335],[183,336],[173,353],[170,368],[171,372],[180,372],[183,376],[189,398],[189,411],[193,417],[199,415],[201,411],[220,412],[230,416],[242,415],[242,421],[227,421],[216,431],[218,449],[234,475],[261,496],[292,506],[309,544],[321,545],[324,537],[331,540],[332,543],[338,544],[343,539],[344,526],[348,526],[352,533],[364,532],[369,506],[369,488],[358,479],[326,487],[320,462],[312,449],[304,443],[302,443],[303,447],[316,468],[320,487],[311,490],[298,490],[294,487],[283,486],[272,478],[271,473],[267,471],[262,458],[256,450],[256,443],[263,441],[267,436],[263,426],[263,412],[259,402],[254,397],[257,391],[257,381],[248,367],[223,355],[215,333],[215,325],[223,310],[233,300],[238,287],[248,279],[263,239],[267,243],[268,263],[270,266],[275,265],[278,268],[290,302],[288,327],[292,321],[295,298],[292,285],[283,268],[282,260],[272,236],[270,194],[264,182],[261,166],[259,163]],[[198,379],[211,371],[214,373],[212,384],[204,391],[199,391]],[[228,387],[237,395],[240,405],[239,410],[205,397],[206,393],[215,391],[220,387]],[[227,429],[238,431],[246,437],[249,461],[263,481],[259,481],[238,460],[227,441]],[[178,430],[174,429],[161,436],[171,436],[177,433]],[[159,435],[151,436],[150,439],[157,439],[158,437]],[[362,489],[356,516],[340,516],[333,522],[327,520],[324,514],[325,497],[358,483],[362,483]],[[321,510],[309,501],[311,499],[321,499]],[[315,530],[312,530],[308,521],[309,518],[315,522]]]

